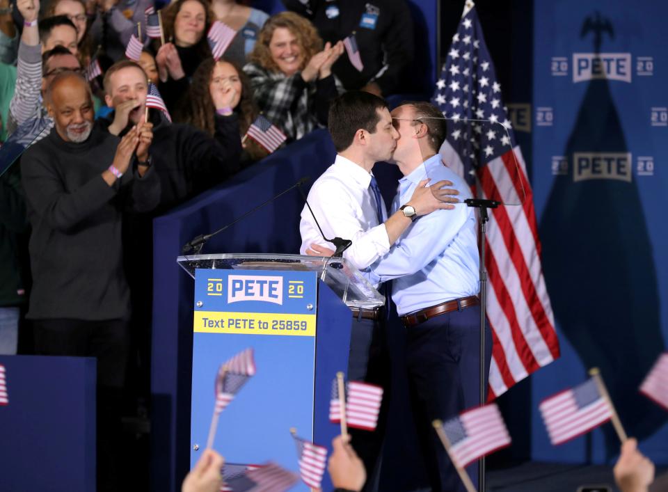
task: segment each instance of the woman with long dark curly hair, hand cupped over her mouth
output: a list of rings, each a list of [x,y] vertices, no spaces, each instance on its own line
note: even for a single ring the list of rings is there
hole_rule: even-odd
[[[189,123],[213,136],[216,132],[216,116],[225,114],[228,109],[239,118],[239,138],[246,134],[260,113],[253,100],[253,89],[250,88],[248,77],[237,64],[225,57],[218,61],[209,57],[195,70],[188,97],[182,101],[176,120]],[[242,145],[242,165],[269,154],[250,138],[242,141]]]

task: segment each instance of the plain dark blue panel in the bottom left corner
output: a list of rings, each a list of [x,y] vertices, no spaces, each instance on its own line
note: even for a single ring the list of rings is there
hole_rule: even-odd
[[[95,490],[94,358],[0,356],[0,491]]]

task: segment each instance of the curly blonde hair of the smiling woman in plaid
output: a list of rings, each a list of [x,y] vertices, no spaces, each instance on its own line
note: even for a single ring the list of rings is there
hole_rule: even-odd
[[[278,65],[271,58],[271,51],[269,51],[269,43],[273,37],[273,31],[276,31],[279,27],[287,29],[297,38],[299,49],[301,49],[303,54],[299,70],[303,70],[311,57],[318,51],[321,51],[322,38],[320,38],[317,29],[315,29],[315,26],[308,19],[294,12],[281,12],[267,19],[267,22],[262,26],[260,35],[257,36],[257,42],[255,42],[253,51],[250,51],[248,54],[248,61],[257,63],[257,65],[272,72],[279,71]]]

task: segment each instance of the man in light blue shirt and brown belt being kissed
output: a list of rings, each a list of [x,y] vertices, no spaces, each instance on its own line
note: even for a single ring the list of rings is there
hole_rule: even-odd
[[[406,364],[418,440],[433,491],[464,491],[431,422],[447,420],[479,403],[479,252],[476,218],[463,200],[468,185],[447,168],[438,149],[445,120],[426,102],[392,111],[399,132],[392,155],[404,177],[392,212],[417,185],[448,180],[459,191],[454,210],[416,218],[390,251],[369,267],[374,283],[392,282],[392,300],[406,327]],[[486,347],[491,348],[491,335]],[[491,350],[486,363],[489,364]],[[468,467],[477,482],[477,463]]]

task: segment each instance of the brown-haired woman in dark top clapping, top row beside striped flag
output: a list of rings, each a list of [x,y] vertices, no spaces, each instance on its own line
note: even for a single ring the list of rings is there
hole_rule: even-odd
[[[191,77],[211,56],[207,31],[214,22],[207,0],[176,0],[161,10],[165,39],[154,40],[159,90],[170,111],[175,111],[187,93]]]

